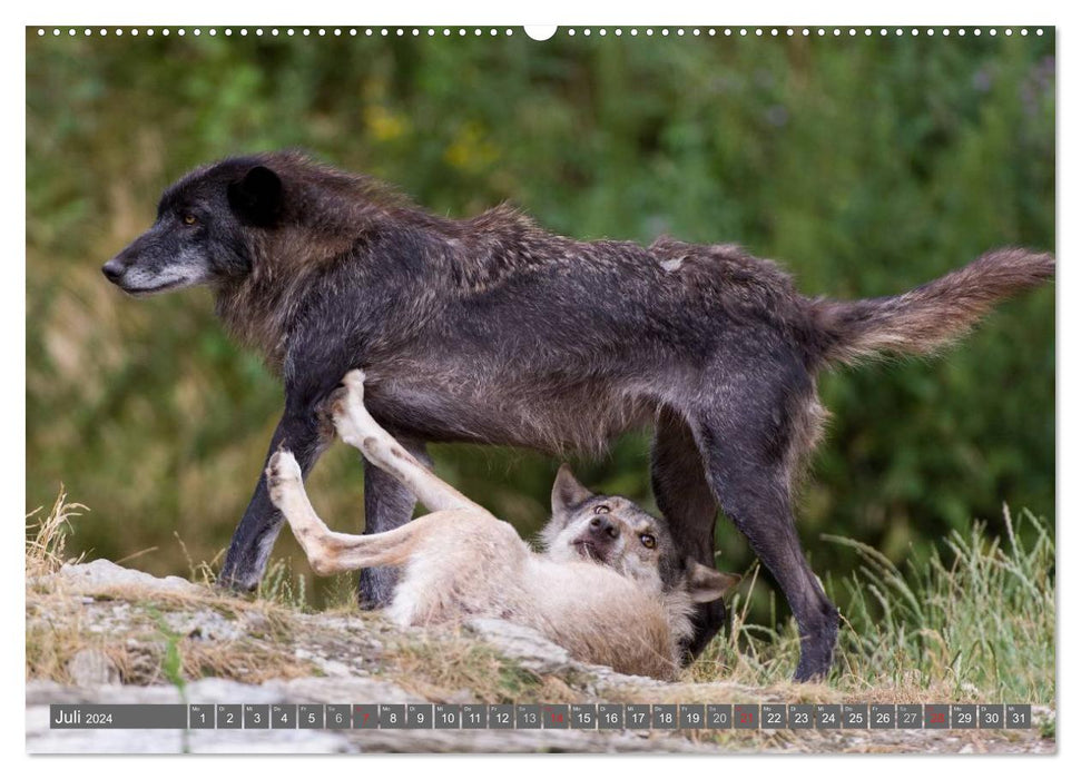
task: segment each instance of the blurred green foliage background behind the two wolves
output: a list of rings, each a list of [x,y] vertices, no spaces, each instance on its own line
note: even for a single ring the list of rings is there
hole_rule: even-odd
[[[99,270],[197,164],[299,146],[442,214],[505,199],[582,238],[738,241],[808,295],[886,295],[992,247],[1054,247],[1053,52],[1052,36],[29,30],[28,507],[62,481],[92,509],[77,550],[156,573],[187,573],[228,543],[281,388],[226,339],[208,292],[136,300]],[[823,377],[835,416],[799,512],[817,571],[855,564],[820,533],[897,561],[973,517],[1001,529],[1003,502],[1053,516],[1053,314],[1049,286],[938,359]],[[558,463],[490,447],[435,456],[523,533],[547,519]],[[336,446],[313,475],[337,529],[363,526],[361,473]],[[653,507],[646,434],[579,476]],[[287,536],[276,554],[308,575]],[[720,568],[751,562],[727,522],[717,538]]]

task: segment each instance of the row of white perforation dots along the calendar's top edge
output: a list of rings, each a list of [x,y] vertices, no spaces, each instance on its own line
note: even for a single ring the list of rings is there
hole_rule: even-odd
[[[831,37],[831,38],[842,38],[842,37],[855,38],[855,37],[861,36],[861,34],[863,37],[865,37],[865,38],[869,38],[869,37],[875,36],[875,34],[877,34],[879,37],[887,37],[887,36],[892,36],[892,37],[911,36],[911,37],[914,37],[915,38],[915,37],[920,37],[920,36],[926,36],[928,38],[933,38],[935,34],[940,34],[942,37],[950,37],[951,34],[955,34],[955,36],[959,36],[959,37],[965,37],[965,36],[970,36],[970,34],[971,36],[975,36],[975,37],[980,37],[980,36],[982,36],[982,34],[985,33],[985,34],[991,36],[993,38],[993,37],[999,36],[1000,32],[1001,32],[1001,34],[1003,34],[1003,36],[1005,36],[1005,37],[1009,38],[1009,37],[1012,37],[1015,32],[1019,33],[1019,34],[1021,34],[1021,36],[1028,36],[1029,32],[1030,32],[1030,30],[1029,30],[1029,28],[1025,28],[1025,27],[1016,28],[1016,29],[1015,28],[1011,28],[1011,27],[1001,28],[1001,29],[1000,28],[994,28],[994,27],[991,27],[991,28],[980,28],[980,27],[974,27],[974,28],[964,28],[964,27],[960,27],[960,28],[949,28],[949,27],[944,27],[944,28],[938,28],[938,29],[935,29],[935,28],[916,28],[916,27],[913,27],[913,28],[902,28],[902,27],[897,27],[897,28],[885,28],[885,27],[879,27],[879,28],[871,28],[871,27],[862,27],[862,28],[855,28],[855,27],[846,27],[846,28],[842,28],[842,27],[832,27],[832,28],[826,28],[826,27],[802,27],[802,28],[793,28],[793,27],[765,27],[765,28],[764,27],[754,27],[754,28],[747,28],[747,27],[738,27],[738,28],[733,28],[733,27],[715,28],[715,27],[709,27],[709,28],[698,28],[698,27],[695,27],[695,28],[682,28],[682,27],[678,27],[678,28],[675,28],[675,29],[671,29],[671,30],[668,29],[668,28],[653,29],[651,27],[641,28],[641,29],[639,29],[637,27],[632,27],[632,28],[628,28],[628,29],[625,30],[622,28],[618,28],[617,27],[617,28],[613,28],[611,30],[609,30],[607,28],[599,28],[597,30],[592,30],[590,28],[584,28],[584,29],[580,29],[580,30],[579,29],[576,29],[576,28],[568,28],[568,29],[563,30],[563,33],[567,34],[567,36],[569,36],[569,37],[571,37],[571,38],[573,38],[574,36],[578,36],[578,34],[581,34],[581,36],[584,36],[584,37],[588,38],[588,37],[592,36],[594,32],[596,32],[597,36],[600,36],[602,38],[606,37],[606,36],[608,36],[608,34],[613,34],[616,37],[622,37],[623,34],[628,34],[628,36],[630,36],[632,38],[633,37],[638,37],[639,34],[645,36],[647,38],[653,37],[653,36],[658,36],[658,34],[660,37],[669,37],[672,33],[675,33],[676,37],[684,37],[684,36],[690,34],[692,37],[700,37],[700,36],[709,36],[709,37],[724,36],[724,37],[727,37],[727,38],[731,38],[731,37],[746,38],[746,37],[751,37],[751,36],[754,36],[756,38],[765,38],[765,37],[769,37],[769,38],[789,37],[790,38],[790,37],[796,37],[796,36],[802,36],[804,38],[812,38],[812,37],[817,37],[817,38],[826,38],[826,37]],[[79,36],[79,34],[81,34],[83,37],[90,37],[90,36],[94,36],[94,34],[97,34],[99,37],[105,37],[105,36],[109,36],[109,34],[120,37],[120,36],[128,34],[128,36],[131,36],[132,38],[137,38],[140,34],[141,36],[146,36],[148,38],[154,37],[155,34],[163,36],[163,37],[168,37],[168,36],[174,34],[174,33],[177,34],[177,36],[180,36],[180,37],[184,37],[186,34],[191,34],[191,36],[195,36],[196,38],[202,37],[203,34],[207,34],[207,36],[209,36],[212,38],[217,37],[219,34],[225,36],[225,37],[239,36],[242,38],[247,37],[247,36],[271,37],[271,38],[283,37],[284,36],[284,37],[287,37],[288,38],[288,37],[295,37],[295,36],[311,37],[313,34],[316,36],[316,37],[320,37],[320,38],[325,38],[325,37],[341,38],[343,36],[345,36],[345,37],[352,37],[352,38],[355,38],[355,37],[358,37],[358,36],[363,36],[363,37],[366,37],[366,38],[372,38],[372,37],[382,37],[382,38],[397,37],[397,38],[402,38],[402,37],[405,37],[405,36],[412,36],[414,38],[419,38],[421,36],[428,36],[429,38],[434,38],[435,36],[440,36],[440,34],[443,36],[444,38],[450,38],[452,36],[458,36],[460,38],[464,38],[464,37],[469,36],[469,34],[472,34],[473,37],[480,37],[480,36],[484,36],[485,33],[488,36],[490,36],[490,37],[497,37],[497,36],[500,36],[500,34],[502,34],[502,36],[513,36],[514,34],[514,31],[512,29],[510,29],[510,28],[498,29],[498,28],[479,28],[479,27],[474,27],[474,28],[464,28],[464,27],[459,27],[459,28],[450,28],[450,27],[442,27],[442,28],[434,28],[434,27],[428,27],[428,28],[420,28],[420,27],[413,27],[413,28],[406,28],[406,27],[393,27],[393,28],[387,28],[387,27],[381,27],[381,28],[372,28],[372,27],[367,27],[367,28],[356,28],[356,27],[350,27],[350,28],[343,28],[343,27],[333,27],[333,28],[327,28],[327,27],[317,27],[317,28],[308,28],[308,27],[304,27],[304,28],[293,28],[293,27],[278,28],[278,27],[271,27],[271,28],[262,28],[262,27],[256,27],[256,28],[246,28],[246,27],[242,27],[242,28],[237,28],[235,30],[233,28],[229,28],[229,27],[222,28],[222,29],[214,28],[214,27],[210,27],[210,28],[199,28],[199,27],[195,27],[195,28],[183,28],[183,27],[180,27],[180,28],[167,28],[167,27],[166,28],[138,28],[138,27],[128,27],[128,28],[122,28],[122,27],[117,27],[117,28],[105,28],[105,27],[101,27],[101,28],[89,28],[89,27],[85,27],[85,28],[75,28],[75,27],[69,27],[69,28],[59,28],[59,27],[43,28],[43,27],[39,27],[38,28],[38,37],[45,37],[45,36],[50,34],[50,33],[53,37],[60,37],[60,36],[63,36],[63,34],[67,34],[69,37],[76,37],[76,36]],[[1042,36],[1043,34],[1043,28],[1035,28],[1034,33],[1036,36]]]

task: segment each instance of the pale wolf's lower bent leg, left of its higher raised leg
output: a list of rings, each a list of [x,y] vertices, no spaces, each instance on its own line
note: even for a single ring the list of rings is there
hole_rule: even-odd
[[[321,576],[373,565],[401,565],[409,558],[421,526],[406,524],[387,533],[336,533],[315,513],[304,491],[301,466],[291,452],[278,451],[266,469],[271,501]]]

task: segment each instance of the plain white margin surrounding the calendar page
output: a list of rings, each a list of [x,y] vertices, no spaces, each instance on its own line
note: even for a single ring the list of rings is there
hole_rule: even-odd
[[[12,7],[13,6],[13,7]],[[979,6],[952,7],[942,3],[941,0],[932,2],[930,0],[912,0],[903,6],[893,4],[890,7],[878,7],[868,9],[865,2],[819,2],[808,4],[806,2],[773,2],[769,4],[733,4],[721,3],[688,2],[685,0],[668,0],[664,3],[649,3],[632,7],[628,3],[598,2],[586,4],[578,0],[546,0],[534,2],[532,7],[524,7],[519,3],[500,2],[493,0],[485,2],[459,0],[453,7],[446,2],[413,2],[413,3],[345,3],[325,2],[321,0],[308,0],[299,8],[286,6],[271,6],[268,3],[223,3],[220,0],[210,2],[208,0],[189,0],[184,3],[139,3],[134,2],[77,2],[72,0],[60,2],[37,2],[9,4],[4,10],[6,21],[3,30],[6,40],[0,49],[4,58],[6,72],[4,79],[6,100],[9,103],[9,117],[20,116],[22,120],[10,120],[3,127],[7,141],[3,147],[9,159],[6,160],[6,169],[9,171],[3,187],[6,215],[6,229],[3,240],[7,243],[4,255],[8,262],[17,262],[14,258],[24,256],[24,220],[20,220],[24,214],[24,81],[19,80],[16,73],[24,70],[24,38],[22,27],[26,24],[52,23],[125,23],[125,24],[177,24],[199,22],[202,24],[237,24],[257,20],[261,23],[306,23],[306,24],[341,24],[343,22],[355,22],[364,20],[374,24],[431,24],[454,23],[454,24],[475,24],[484,23],[500,26],[519,26],[522,23],[551,24],[554,22],[572,24],[592,26],[613,26],[616,22],[630,26],[646,24],[708,24],[720,22],[724,24],[792,24],[794,22],[814,22],[816,24],[888,24],[888,26],[912,26],[912,24],[987,24],[1004,26],[1003,22],[1019,26],[1025,24],[1048,24],[1063,23],[1058,31],[1058,85],[1059,102],[1057,116],[1059,120],[1060,138],[1081,137],[1081,122],[1078,120],[1079,95],[1077,89],[1078,69],[1075,67],[1075,55],[1071,50],[1071,43],[1079,34],[1079,28],[1072,26],[1072,21],[1067,22],[1063,17],[1061,4],[1046,0],[1030,0],[1023,4],[1016,2],[986,1]],[[313,42],[313,45],[316,45]],[[22,132],[20,132],[20,129]],[[1059,198],[1057,199],[1060,214],[1078,214],[1081,210],[1079,203],[1078,183],[1079,176],[1078,152],[1070,144],[1061,144],[1059,148]],[[18,171],[21,175],[16,175]],[[1081,305],[1069,305],[1081,303],[1081,289],[1078,288],[1077,274],[1071,265],[1077,262],[1072,258],[1070,249],[1078,245],[1078,219],[1059,220],[1059,240],[1057,241],[1057,254],[1064,262],[1060,263],[1057,288],[1059,295],[1059,331],[1057,334],[1057,345],[1060,349],[1058,362],[1057,381],[1058,397],[1081,397],[1081,381],[1078,378],[1078,344],[1081,343]],[[4,329],[9,336],[3,339],[8,365],[21,366],[20,369],[8,373],[21,377],[20,383],[10,382],[3,387],[4,403],[8,415],[4,417],[7,441],[24,440],[24,425],[20,424],[24,420],[24,278],[22,284],[9,283],[4,285],[4,300],[0,310],[4,315]],[[1067,303],[1067,305],[1062,305]],[[22,334],[19,338],[16,335]],[[21,342],[21,343],[20,343]],[[1059,421],[1059,469],[1062,473],[1075,473],[1078,465],[1078,441],[1081,433],[1081,412],[1071,408],[1070,404],[1061,407]],[[14,412],[14,413],[12,413]],[[21,412],[21,413],[20,413]],[[19,417],[22,418],[19,418]],[[8,527],[11,538],[6,539],[2,549],[7,555],[2,569],[2,575],[8,578],[7,592],[19,593],[16,598],[4,599],[4,615],[9,624],[23,624],[24,610],[22,608],[23,581],[22,581],[22,552],[21,543],[17,543],[13,538],[17,523],[14,517],[24,513],[24,454],[19,457],[17,453],[7,453],[2,461],[2,472],[4,474],[6,487],[2,492],[4,496],[3,515],[8,517]],[[1057,516],[1074,516],[1081,509],[1079,501],[1079,490],[1081,480],[1059,479],[1059,506]],[[17,499],[18,496],[18,499]],[[1063,544],[1073,551],[1075,545],[1075,531],[1070,522],[1063,522],[1058,527],[1059,549]],[[1058,566],[1059,572],[1059,637],[1060,645],[1057,657],[1065,652],[1067,657],[1077,655],[1078,648],[1078,619],[1077,604],[1079,602],[1078,586],[1075,580],[1069,575],[1069,570]],[[1062,608],[1068,607],[1068,608]],[[0,669],[3,672],[3,689],[7,706],[2,709],[2,724],[0,732],[3,733],[3,746],[8,755],[22,753],[24,756],[24,743],[22,733],[23,728],[23,697],[19,693],[23,686],[23,647],[14,641],[7,641],[2,645],[2,663]],[[1070,669],[1069,663],[1060,664],[1057,687],[1060,700],[1067,696],[1075,698],[1075,673]],[[1071,739],[1070,734],[1077,734],[1078,728],[1071,727],[1071,722],[1077,722],[1078,718],[1063,720],[1058,731],[1058,742],[1060,753],[1077,751],[1077,739]],[[1065,730],[1064,728],[1069,728]],[[372,756],[366,756],[371,759]],[[701,763],[684,762],[679,766],[668,765],[675,758],[658,758],[664,760],[664,765],[658,759],[638,760],[627,758],[618,766],[618,770],[627,772],[628,776],[656,776],[658,771],[667,771],[671,768],[686,771],[724,771],[730,772],[734,769],[739,771],[760,770],[761,766],[756,766],[758,758],[735,758],[739,765],[726,762],[724,765],[711,762]],[[401,759],[401,758],[397,758]],[[458,770],[459,767],[469,771],[471,775],[495,775],[495,772],[514,771],[515,776],[527,779],[532,776],[546,775],[552,770],[566,771],[573,767],[573,770],[596,772],[598,765],[593,762],[596,758],[563,758],[558,767],[546,765],[542,760],[523,760],[514,758],[459,758],[451,769],[449,763],[443,761],[436,763],[433,760],[424,761],[423,758],[411,760],[414,768],[428,768],[432,771]],[[848,762],[852,758],[819,757],[816,760],[814,770],[834,771],[838,768],[851,769]],[[106,770],[111,776],[126,776],[128,773],[145,773],[148,766],[145,758],[98,758],[94,760],[91,770]],[[311,767],[325,763],[302,765],[296,760],[281,761],[268,757],[248,758],[256,761],[259,769],[272,772],[283,770],[294,772],[297,770],[308,770]],[[750,762],[744,765],[744,761]],[[936,758],[925,758],[918,765],[908,761],[877,759],[874,770],[885,777],[900,776],[902,772],[908,773],[912,770],[925,770],[927,760]],[[81,761],[80,761],[81,763]],[[10,765],[10,763],[9,763]],[[245,767],[248,761],[245,761]],[[400,766],[401,763],[399,763]],[[1043,760],[1040,766],[1041,771],[1059,771],[1065,765],[1064,760],[1049,761]],[[395,766],[395,770],[400,770]],[[45,760],[36,759],[32,766],[26,763],[18,766],[18,769],[32,770],[36,776],[51,777],[61,772],[69,776],[72,771],[87,770],[81,765],[72,763],[70,760]],[[163,779],[173,776],[187,776],[195,766],[187,766],[179,761],[158,761],[153,766],[153,770]],[[202,759],[198,770],[230,771],[236,770],[238,763],[232,766],[224,758]],[[351,770],[357,770],[354,767]],[[371,767],[368,770],[391,770],[389,765]],[[770,767],[773,768],[773,767]],[[956,770],[956,763],[953,765]],[[335,766],[335,770],[342,767]],[[788,771],[803,771],[805,767],[797,766],[788,761]],[[1005,771],[1011,773],[1018,770],[1025,770],[1015,760],[981,761],[979,766],[981,772],[995,775]],[[181,773],[183,772],[183,773]]]

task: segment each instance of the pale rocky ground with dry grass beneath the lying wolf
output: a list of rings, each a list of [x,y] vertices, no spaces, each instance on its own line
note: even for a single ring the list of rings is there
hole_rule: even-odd
[[[305,613],[98,560],[27,588],[30,752],[1026,752],[1029,730],[51,730],[50,703],[701,703],[855,701],[825,686],[662,683],[572,661],[500,621],[400,630]],[[859,702],[876,700],[873,692]],[[900,702],[900,701],[898,701]],[[927,701],[937,702],[937,701]]]

